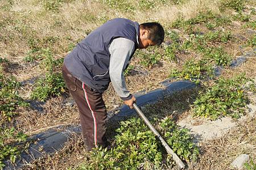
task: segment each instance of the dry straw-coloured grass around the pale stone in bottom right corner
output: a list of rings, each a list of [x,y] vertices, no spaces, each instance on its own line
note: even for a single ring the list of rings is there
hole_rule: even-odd
[[[201,155],[191,169],[233,169],[230,163],[240,154],[256,158],[256,118],[248,118],[220,139],[201,143]]]

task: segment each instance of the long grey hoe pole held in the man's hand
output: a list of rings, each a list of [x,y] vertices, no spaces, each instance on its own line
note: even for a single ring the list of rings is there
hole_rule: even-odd
[[[180,169],[183,169],[185,167],[184,163],[175,154],[175,152],[170,148],[170,146],[168,146],[168,144],[166,143],[166,141],[164,141],[164,139],[161,137],[161,135],[158,133],[158,131],[156,131],[155,128],[151,125],[151,123],[147,120],[147,117],[142,113],[141,109],[139,109],[137,104],[134,103],[133,107],[137,111],[139,116],[141,116],[143,121],[147,124],[148,128],[150,128],[150,130],[156,135],[156,137],[158,137],[158,139],[160,139],[160,141],[162,142],[162,145],[164,146],[164,148],[166,148],[167,153],[172,155],[172,158],[175,160],[177,166]]]

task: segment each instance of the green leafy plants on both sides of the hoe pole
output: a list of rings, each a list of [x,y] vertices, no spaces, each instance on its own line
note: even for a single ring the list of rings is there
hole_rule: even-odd
[[[113,147],[92,151],[88,161],[78,169],[160,169],[174,165],[174,160],[166,155],[160,142],[140,118],[130,118],[120,125]],[[197,159],[199,149],[187,129],[180,128],[170,118],[155,122],[155,125],[181,159],[187,162]],[[163,159],[167,160],[166,164]]]

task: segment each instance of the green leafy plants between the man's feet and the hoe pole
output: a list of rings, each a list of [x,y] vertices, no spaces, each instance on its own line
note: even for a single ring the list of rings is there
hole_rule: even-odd
[[[162,154],[158,151],[154,134],[140,119],[121,122],[116,131],[115,147],[109,151],[94,150],[89,162],[80,169],[151,169],[160,166]]]

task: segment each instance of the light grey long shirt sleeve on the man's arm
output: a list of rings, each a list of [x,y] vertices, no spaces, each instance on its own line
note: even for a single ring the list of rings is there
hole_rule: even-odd
[[[126,88],[123,71],[129,62],[131,54],[133,54],[134,48],[135,44],[133,41],[122,37],[114,39],[109,46],[109,75],[115,92],[117,92],[122,100],[129,100],[131,98],[131,94]]]

